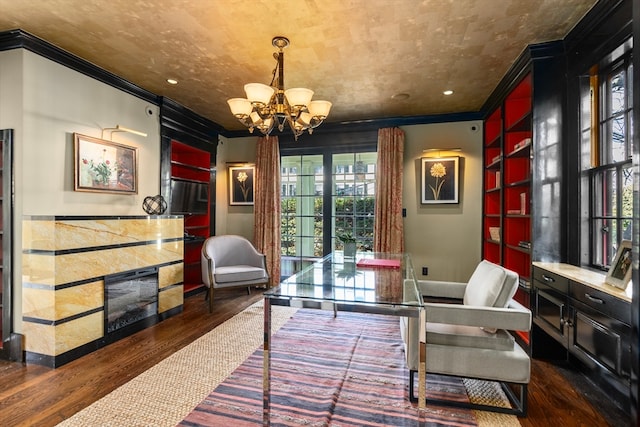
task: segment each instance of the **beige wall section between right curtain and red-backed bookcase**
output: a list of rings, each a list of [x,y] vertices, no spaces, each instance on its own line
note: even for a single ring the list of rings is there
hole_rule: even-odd
[[[475,127],[475,130],[472,128]],[[403,126],[405,250],[418,278],[467,281],[481,258],[482,122]],[[420,158],[428,148],[460,148],[459,204],[420,204]],[[422,267],[429,268],[422,276]]]

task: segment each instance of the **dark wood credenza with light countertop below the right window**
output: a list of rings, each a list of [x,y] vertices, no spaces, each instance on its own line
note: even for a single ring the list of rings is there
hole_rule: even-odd
[[[627,409],[632,287],[618,289],[606,284],[605,277],[574,265],[534,262],[531,350],[534,357],[577,362],[618,406]]]

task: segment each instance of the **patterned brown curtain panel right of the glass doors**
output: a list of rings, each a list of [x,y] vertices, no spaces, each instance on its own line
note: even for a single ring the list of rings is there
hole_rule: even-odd
[[[373,231],[375,252],[404,251],[402,227],[402,166],[404,132],[399,128],[378,130],[376,207]]]

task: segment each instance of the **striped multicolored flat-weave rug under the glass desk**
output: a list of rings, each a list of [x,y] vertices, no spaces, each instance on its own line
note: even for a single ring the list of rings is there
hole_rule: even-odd
[[[258,349],[180,426],[261,425],[262,361]],[[478,425],[475,411],[408,401],[396,317],[300,310],[273,337],[271,366],[272,426]],[[429,398],[468,401],[462,380],[435,375]]]

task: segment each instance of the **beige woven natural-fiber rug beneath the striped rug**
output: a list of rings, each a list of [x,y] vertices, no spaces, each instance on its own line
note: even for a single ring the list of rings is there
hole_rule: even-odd
[[[293,308],[273,307],[274,333],[295,312]],[[339,317],[342,316],[343,313],[339,313]],[[389,319],[395,320],[393,317]],[[261,346],[262,327],[260,301],[58,426],[171,427],[184,423],[195,413],[194,408],[203,404],[212,390]],[[277,333],[274,335],[276,338]],[[262,369],[261,361],[256,369]],[[274,379],[277,375],[274,373]],[[475,393],[483,398],[506,400],[504,396],[496,395],[496,390],[491,387],[487,392],[486,387],[467,384],[467,389],[469,392],[476,390]],[[473,398],[473,393],[471,395]],[[261,408],[262,403],[259,406]],[[439,411],[435,407],[429,410]],[[481,411],[474,411],[474,414],[480,427],[520,425],[517,417],[512,415]],[[225,427],[235,425],[224,424]]]

